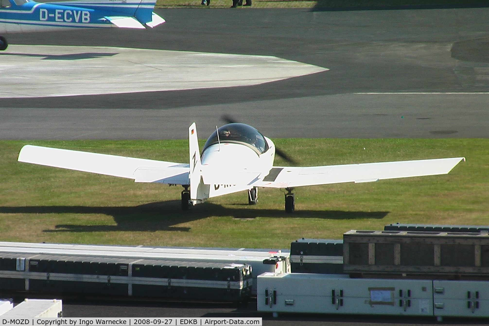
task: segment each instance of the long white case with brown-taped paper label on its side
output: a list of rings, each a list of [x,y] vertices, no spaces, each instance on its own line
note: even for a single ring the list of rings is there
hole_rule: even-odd
[[[258,276],[257,310],[433,316],[432,281],[350,279],[334,274]]]

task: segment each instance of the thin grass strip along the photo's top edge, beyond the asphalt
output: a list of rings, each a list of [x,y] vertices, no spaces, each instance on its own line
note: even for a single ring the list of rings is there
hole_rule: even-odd
[[[227,8],[232,0],[211,0],[210,6],[200,5],[201,0],[157,0],[156,7],[207,7]],[[315,8],[315,9],[355,9],[382,8],[392,6],[473,6],[488,5],[487,0],[253,0],[255,8]]]

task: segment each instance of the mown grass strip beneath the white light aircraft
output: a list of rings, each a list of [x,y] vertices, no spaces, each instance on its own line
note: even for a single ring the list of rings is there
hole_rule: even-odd
[[[489,139],[276,139],[301,165],[465,156],[447,175],[296,188],[286,214],[277,189],[180,211],[181,187],[19,163],[24,144],[186,162],[186,140],[0,141],[0,240],[280,247],[384,224],[488,224]],[[365,148],[365,149],[364,149]],[[276,160],[276,165],[284,162]]]

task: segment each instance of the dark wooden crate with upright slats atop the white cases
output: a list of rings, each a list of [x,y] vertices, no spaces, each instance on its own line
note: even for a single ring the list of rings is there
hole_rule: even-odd
[[[360,231],[343,235],[346,273],[489,276],[488,233]]]

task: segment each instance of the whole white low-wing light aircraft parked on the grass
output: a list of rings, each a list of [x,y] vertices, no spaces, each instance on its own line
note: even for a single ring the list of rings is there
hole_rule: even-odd
[[[255,128],[229,123],[214,131],[199,150],[197,129],[188,129],[189,164],[25,145],[19,161],[134,179],[182,185],[181,206],[188,209],[208,198],[248,191],[256,204],[258,188],[285,188],[285,210],[294,211],[293,188],[341,182],[447,174],[464,157],[314,167],[273,166],[273,142]],[[287,157],[285,157],[287,159]]]

